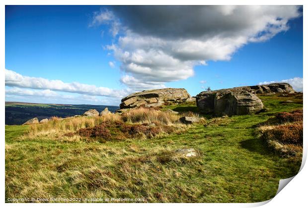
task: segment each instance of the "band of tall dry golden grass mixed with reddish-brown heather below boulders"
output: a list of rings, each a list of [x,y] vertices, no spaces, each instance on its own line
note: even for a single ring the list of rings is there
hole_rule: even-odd
[[[157,136],[160,133],[171,133],[183,131],[187,127],[186,125],[180,123],[179,118],[181,116],[199,116],[196,113],[185,112],[184,114],[173,114],[167,111],[161,111],[154,108],[134,108],[128,112],[119,113],[109,113],[104,116],[75,116],[69,118],[59,118],[52,117],[46,123],[32,124],[29,126],[28,133],[26,135],[20,136],[20,139],[36,139],[45,138],[52,140],[60,140],[66,142],[78,142],[84,139],[87,134],[82,134],[80,132],[87,132],[89,137],[95,136],[98,126],[104,126],[104,135],[97,136],[103,137],[101,141],[116,139],[131,138],[149,138]],[[154,123],[155,126],[151,128],[146,128],[141,124],[151,124]],[[133,124],[133,126],[130,126]],[[106,129],[106,126],[108,129]],[[176,128],[175,128],[176,126]],[[143,127],[143,128],[142,128]],[[124,132],[123,128],[130,128],[126,133],[129,135],[122,134]],[[122,131],[122,132],[119,132]],[[140,132],[136,132],[140,131]],[[132,133],[133,132],[133,133]],[[99,132],[98,132],[99,133]],[[101,133],[101,132],[100,132]],[[87,140],[86,140],[87,141]],[[92,139],[91,139],[92,141]]]

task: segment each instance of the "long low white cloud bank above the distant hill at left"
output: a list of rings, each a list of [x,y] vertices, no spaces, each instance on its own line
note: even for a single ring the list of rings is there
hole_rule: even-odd
[[[123,98],[130,92],[129,90],[114,90],[106,87],[81,84],[78,82],[65,83],[61,80],[48,80],[40,77],[23,76],[8,69],[5,69],[5,85],[10,87],[49,90],[46,91],[49,93],[51,93],[51,91],[61,91],[116,98]]]

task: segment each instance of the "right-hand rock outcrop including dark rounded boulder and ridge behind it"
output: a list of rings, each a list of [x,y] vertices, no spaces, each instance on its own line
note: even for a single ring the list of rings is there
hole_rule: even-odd
[[[204,91],[196,96],[202,113],[245,115],[263,108],[257,94],[295,93],[288,83],[244,86],[215,91]]]

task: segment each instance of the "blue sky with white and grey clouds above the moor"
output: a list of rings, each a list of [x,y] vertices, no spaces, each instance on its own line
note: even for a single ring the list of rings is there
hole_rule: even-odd
[[[5,6],[5,101],[119,105],[271,82],[303,91],[300,6]]]

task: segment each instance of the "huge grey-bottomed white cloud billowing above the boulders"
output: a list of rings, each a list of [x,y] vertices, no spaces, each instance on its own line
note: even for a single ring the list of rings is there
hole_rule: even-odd
[[[288,30],[300,15],[292,5],[113,6],[96,12],[91,25],[110,25],[114,36],[122,31],[106,47],[122,63],[121,82],[130,77],[139,83],[131,86],[153,88],[193,76],[195,65],[230,60],[245,44]]]

